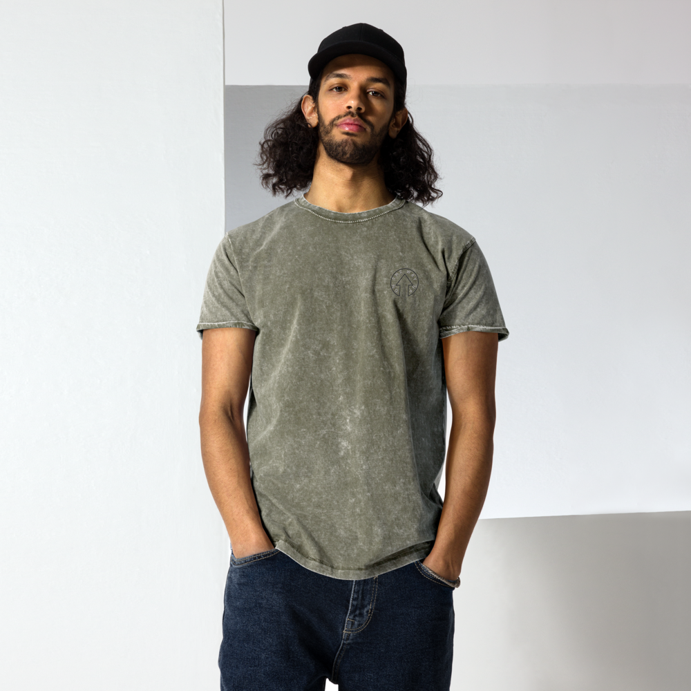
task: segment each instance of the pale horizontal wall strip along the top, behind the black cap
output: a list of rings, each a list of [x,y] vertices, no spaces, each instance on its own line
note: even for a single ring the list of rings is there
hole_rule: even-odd
[[[303,84],[321,39],[366,21],[409,84],[688,84],[689,0],[226,0],[226,84]],[[355,11],[353,11],[355,10]]]

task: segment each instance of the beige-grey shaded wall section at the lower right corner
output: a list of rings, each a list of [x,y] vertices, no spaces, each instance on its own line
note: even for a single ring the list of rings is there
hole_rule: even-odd
[[[480,520],[453,689],[688,691],[691,512]]]

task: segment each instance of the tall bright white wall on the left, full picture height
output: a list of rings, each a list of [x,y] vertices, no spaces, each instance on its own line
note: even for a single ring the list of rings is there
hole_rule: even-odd
[[[0,688],[218,688],[220,0],[3,3]]]

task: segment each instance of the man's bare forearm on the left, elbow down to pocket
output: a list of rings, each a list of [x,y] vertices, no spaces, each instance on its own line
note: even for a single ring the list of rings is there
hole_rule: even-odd
[[[249,477],[249,451],[245,425],[223,410],[202,410],[199,417],[202,460],[218,511],[233,551],[252,553],[270,549]]]

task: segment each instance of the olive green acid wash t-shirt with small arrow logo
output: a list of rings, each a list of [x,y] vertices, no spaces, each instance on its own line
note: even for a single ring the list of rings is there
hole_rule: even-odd
[[[507,338],[473,236],[396,198],[343,214],[304,197],[229,231],[197,330],[256,331],[247,442],[265,531],[318,574],[425,558],[442,498],[440,339]]]

